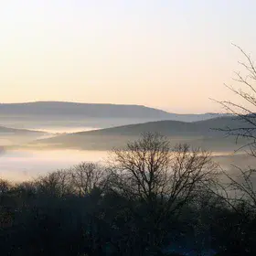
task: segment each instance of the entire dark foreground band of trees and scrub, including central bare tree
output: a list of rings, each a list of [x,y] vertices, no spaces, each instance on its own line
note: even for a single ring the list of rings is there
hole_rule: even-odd
[[[253,171],[227,186],[219,172],[207,151],[146,133],[107,165],[1,180],[1,255],[256,255]]]

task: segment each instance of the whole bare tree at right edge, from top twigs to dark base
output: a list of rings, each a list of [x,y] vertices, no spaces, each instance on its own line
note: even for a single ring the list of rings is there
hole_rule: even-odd
[[[240,50],[245,61],[239,62],[243,68],[235,72],[240,86],[226,85],[230,91],[240,97],[240,102],[218,101],[224,109],[240,120],[241,125],[236,128],[219,127],[220,131],[235,136],[236,141],[245,139],[241,148],[249,148],[246,153],[256,157],[256,68],[251,56],[242,48]],[[219,184],[219,197],[224,199],[226,207],[219,211],[213,224],[216,239],[219,244],[219,255],[255,255],[256,233],[251,229],[256,221],[256,187],[255,169],[242,169],[234,166],[239,175],[231,176],[226,171],[224,175],[228,182]],[[218,231],[217,231],[218,230]]]

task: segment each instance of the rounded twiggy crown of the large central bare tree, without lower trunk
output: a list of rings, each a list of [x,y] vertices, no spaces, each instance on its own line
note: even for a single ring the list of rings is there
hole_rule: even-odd
[[[210,154],[187,144],[171,147],[164,136],[144,133],[138,141],[112,152],[116,185],[132,197],[152,201],[156,197],[171,207],[182,202],[217,175]]]

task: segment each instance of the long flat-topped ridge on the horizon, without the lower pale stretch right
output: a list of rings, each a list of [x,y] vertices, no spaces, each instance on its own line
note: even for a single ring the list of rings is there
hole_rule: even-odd
[[[169,113],[141,105],[117,105],[76,103],[62,101],[36,101],[0,104],[0,114],[75,114],[87,117],[159,117],[168,118]]]

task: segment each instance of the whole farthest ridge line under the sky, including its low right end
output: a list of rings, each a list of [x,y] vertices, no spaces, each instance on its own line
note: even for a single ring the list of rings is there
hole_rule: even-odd
[[[76,103],[64,101],[36,101],[27,103],[2,103],[0,116],[11,118],[32,116],[35,119],[143,119],[151,121],[174,120],[196,122],[218,116],[214,113],[176,114],[142,105]],[[52,118],[53,117],[53,118]]]

